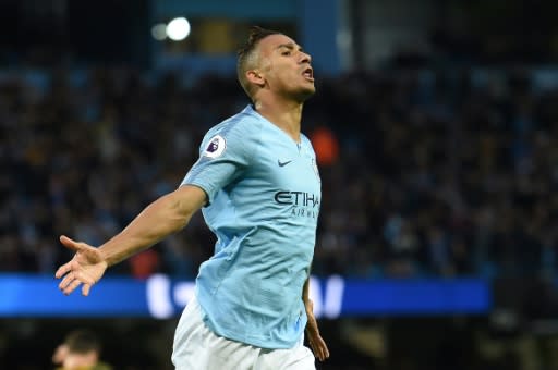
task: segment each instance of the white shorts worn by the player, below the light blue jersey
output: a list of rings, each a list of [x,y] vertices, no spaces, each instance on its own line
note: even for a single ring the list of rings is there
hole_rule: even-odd
[[[172,363],[178,370],[315,370],[314,355],[301,341],[290,349],[265,349],[216,335],[202,320],[194,297],[174,333]]]

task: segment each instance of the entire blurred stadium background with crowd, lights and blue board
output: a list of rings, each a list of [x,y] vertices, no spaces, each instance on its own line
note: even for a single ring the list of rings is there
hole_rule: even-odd
[[[187,229],[63,297],[58,235],[99,245],[172,190],[242,109],[251,25],[313,57],[323,184],[318,369],[558,369],[555,1],[1,0],[0,368],[51,369],[94,328],[118,369],[170,369],[215,238]]]

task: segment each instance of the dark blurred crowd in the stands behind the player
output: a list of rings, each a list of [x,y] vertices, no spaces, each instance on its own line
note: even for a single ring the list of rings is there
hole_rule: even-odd
[[[0,71],[0,272],[52,274],[65,234],[100,245],[174,189],[205,132],[247,98],[234,76]],[[323,200],[313,272],[553,275],[558,88],[529,71],[354,71],[305,106]],[[215,237],[186,230],[109,270],[192,279]]]

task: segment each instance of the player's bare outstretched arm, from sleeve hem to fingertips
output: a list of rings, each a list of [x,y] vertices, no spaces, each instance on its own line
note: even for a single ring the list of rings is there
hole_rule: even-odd
[[[184,185],[147,206],[122,232],[99,248],[62,235],[60,242],[75,255],[56,272],[57,279],[63,278],[60,289],[68,295],[83,284],[82,294],[88,295],[107,268],[181,230],[205,202],[203,189]]]

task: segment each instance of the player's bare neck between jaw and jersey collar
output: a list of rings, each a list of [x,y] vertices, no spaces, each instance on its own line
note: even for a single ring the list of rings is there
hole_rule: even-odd
[[[254,107],[259,114],[284,131],[294,141],[300,141],[303,103],[292,100],[258,100]]]

